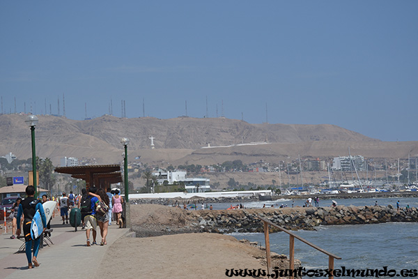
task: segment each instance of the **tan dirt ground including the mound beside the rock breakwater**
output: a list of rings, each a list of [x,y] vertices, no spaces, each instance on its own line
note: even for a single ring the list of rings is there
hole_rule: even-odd
[[[149,235],[159,235],[167,228],[171,232],[178,228],[178,233],[194,220],[192,213],[157,204],[131,206],[131,216],[136,231],[145,229]],[[276,255],[274,261],[275,266],[284,259]],[[254,243],[251,246],[222,234],[125,237],[109,247],[97,275],[98,278],[229,278],[226,269],[266,269],[265,251]]]

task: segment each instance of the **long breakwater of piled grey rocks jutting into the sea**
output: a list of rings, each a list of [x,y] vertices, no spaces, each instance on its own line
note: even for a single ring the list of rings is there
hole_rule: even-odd
[[[285,209],[237,209],[187,211],[192,227],[203,232],[263,232],[258,216],[285,229],[313,230],[318,225],[355,225],[387,222],[418,222],[418,210],[397,211],[392,206],[336,206]],[[270,227],[272,232],[278,229]]]

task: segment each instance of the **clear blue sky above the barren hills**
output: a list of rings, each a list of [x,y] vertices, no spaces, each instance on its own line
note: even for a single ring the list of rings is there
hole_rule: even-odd
[[[63,115],[64,98],[77,120],[225,116],[416,141],[417,13],[415,0],[0,1],[1,112]]]

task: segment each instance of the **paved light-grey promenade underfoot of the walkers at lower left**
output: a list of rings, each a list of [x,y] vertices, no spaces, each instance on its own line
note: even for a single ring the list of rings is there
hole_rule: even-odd
[[[109,226],[107,245],[100,246],[100,228],[96,241],[98,245],[86,246],[86,231],[69,224],[62,225],[59,213],[51,221],[53,245],[44,246],[38,254],[40,266],[28,269],[26,254],[17,252],[24,242],[10,239],[11,233],[0,235],[0,279],[14,278],[78,278],[94,276],[100,269],[100,262],[109,246],[122,236],[130,234],[130,229],[119,229],[116,222]],[[93,242],[93,235],[90,234]],[[111,264],[111,263],[108,263]],[[88,275],[87,275],[88,274]]]

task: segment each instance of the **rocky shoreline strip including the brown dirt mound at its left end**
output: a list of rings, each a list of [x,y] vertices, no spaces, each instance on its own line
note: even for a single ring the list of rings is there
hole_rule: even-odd
[[[144,214],[141,211],[148,211]],[[401,209],[393,206],[336,206],[293,207],[236,210],[186,211],[172,206],[138,204],[131,206],[132,229],[137,237],[210,232],[263,232],[258,216],[267,218],[289,230],[314,230],[318,225],[357,225],[388,222],[418,222],[418,209]],[[270,232],[278,229],[270,228]]]

